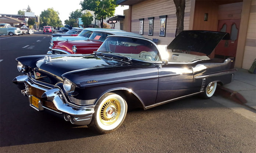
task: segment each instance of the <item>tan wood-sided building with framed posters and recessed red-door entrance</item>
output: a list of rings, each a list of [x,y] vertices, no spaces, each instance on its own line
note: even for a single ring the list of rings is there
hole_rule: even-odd
[[[122,21],[125,31],[157,40],[159,45],[169,45],[175,38],[173,0],[117,0],[117,4],[129,5]],[[236,67],[249,69],[256,58],[256,1],[186,0],[184,30],[230,33],[230,40],[221,40],[209,57],[235,57]]]

